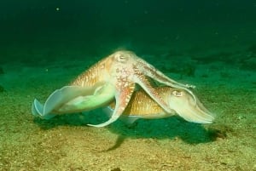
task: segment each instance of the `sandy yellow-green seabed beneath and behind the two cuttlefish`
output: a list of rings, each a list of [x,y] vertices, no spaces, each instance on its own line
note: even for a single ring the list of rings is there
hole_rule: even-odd
[[[216,115],[212,124],[169,117],[91,128],[86,123],[106,119],[102,111],[48,121],[32,116],[34,98],[44,102],[94,62],[1,66],[0,170],[256,170],[256,74],[221,62],[194,61],[195,73],[173,73],[164,66],[170,64],[154,63],[197,86],[195,93]]]

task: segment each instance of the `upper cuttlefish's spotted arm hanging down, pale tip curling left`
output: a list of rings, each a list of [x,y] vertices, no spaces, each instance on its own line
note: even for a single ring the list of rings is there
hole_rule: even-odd
[[[100,123],[96,125],[88,124],[88,126],[105,127],[110,123],[115,122],[125,111],[125,107],[128,105],[129,101],[131,100],[131,94],[133,93],[134,88],[135,88],[135,83],[131,83],[125,88],[116,89],[116,93],[115,93],[116,105],[113,110],[113,115],[110,117],[110,119],[105,123]]]

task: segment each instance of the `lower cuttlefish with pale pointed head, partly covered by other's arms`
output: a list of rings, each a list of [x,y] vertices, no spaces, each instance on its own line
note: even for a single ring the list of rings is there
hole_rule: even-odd
[[[133,123],[139,118],[154,119],[171,117],[175,114],[192,123],[212,123],[214,120],[212,113],[207,111],[200,100],[197,99],[195,104],[195,97],[187,91],[170,87],[155,89],[172,109],[172,112],[164,111],[148,94],[143,90],[138,90],[132,94],[131,101],[122,114],[122,117],[126,117],[128,123]],[[113,106],[114,103],[110,105],[110,110]]]

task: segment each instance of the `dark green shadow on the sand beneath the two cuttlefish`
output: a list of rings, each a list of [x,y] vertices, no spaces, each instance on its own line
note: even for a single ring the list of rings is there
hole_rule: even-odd
[[[100,112],[90,111],[86,114],[61,115],[50,120],[35,118],[34,123],[37,123],[40,128],[50,129],[63,125],[84,127],[88,123],[103,123],[106,120],[108,120],[108,117],[105,115],[102,116]],[[168,117],[154,120],[139,119],[132,125],[127,125],[118,120],[108,125],[108,129],[114,134],[119,134],[115,145],[109,148],[108,151],[118,148],[127,138],[157,140],[174,140],[179,138],[193,145],[212,142],[216,140],[219,135],[218,129],[205,128],[204,125],[198,123],[189,123],[180,117]]]

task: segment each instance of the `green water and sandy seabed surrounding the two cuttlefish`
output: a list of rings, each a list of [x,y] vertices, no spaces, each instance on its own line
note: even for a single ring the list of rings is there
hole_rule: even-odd
[[[194,84],[214,123],[32,116],[118,49]],[[0,170],[256,170],[255,133],[255,0],[0,2]]]

